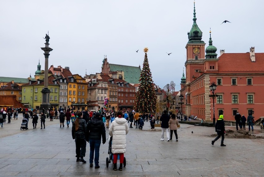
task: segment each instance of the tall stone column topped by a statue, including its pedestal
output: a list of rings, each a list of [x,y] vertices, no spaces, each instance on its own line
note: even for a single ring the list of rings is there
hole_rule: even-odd
[[[51,91],[48,88],[48,65],[49,65],[49,55],[53,49],[49,47],[49,40],[50,40],[49,33],[46,34],[46,37],[44,39],[46,39],[46,43],[44,43],[45,47],[41,48],[44,51],[44,56],[45,56],[44,88],[41,91],[42,92],[42,99],[41,99],[42,102],[41,102],[40,108],[41,109],[44,108],[45,110],[47,110],[48,108],[51,107],[51,104],[50,104]]]

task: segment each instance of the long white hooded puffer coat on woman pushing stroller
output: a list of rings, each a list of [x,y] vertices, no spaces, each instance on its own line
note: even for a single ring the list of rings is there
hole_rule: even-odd
[[[112,138],[112,153],[125,153],[126,151],[126,134],[129,128],[125,118],[115,118],[115,121],[109,127],[109,135]]]

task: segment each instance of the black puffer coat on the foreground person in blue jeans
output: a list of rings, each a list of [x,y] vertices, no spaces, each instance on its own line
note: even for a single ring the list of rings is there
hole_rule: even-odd
[[[85,138],[86,141],[89,139],[99,139],[103,138],[103,143],[106,142],[105,127],[103,121],[100,117],[94,117],[92,120],[89,120],[86,130]]]

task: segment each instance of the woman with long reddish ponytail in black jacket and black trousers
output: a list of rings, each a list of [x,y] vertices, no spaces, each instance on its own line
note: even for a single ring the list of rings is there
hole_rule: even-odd
[[[85,140],[85,129],[86,129],[86,122],[82,119],[82,112],[78,112],[76,116],[76,120],[73,122],[72,128],[72,136],[75,139],[76,145],[76,161],[80,161],[86,163],[83,159],[86,153],[86,140]]]

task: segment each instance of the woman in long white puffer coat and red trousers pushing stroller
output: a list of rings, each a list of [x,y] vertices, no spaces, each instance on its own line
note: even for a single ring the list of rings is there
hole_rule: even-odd
[[[112,121],[109,127],[109,135],[112,137],[112,153],[114,156],[114,168],[117,170],[117,155],[120,157],[119,170],[123,170],[124,153],[126,151],[126,134],[128,134],[128,125],[125,118],[122,118],[123,113],[117,112],[117,117]]]

